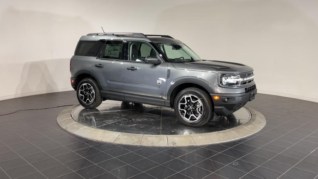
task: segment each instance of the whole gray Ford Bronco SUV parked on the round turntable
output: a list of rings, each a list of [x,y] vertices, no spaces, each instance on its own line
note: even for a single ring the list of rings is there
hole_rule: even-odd
[[[79,39],[70,71],[85,108],[107,99],[167,106],[189,126],[230,115],[257,92],[253,68],[202,60],[169,35],[89,33]]]

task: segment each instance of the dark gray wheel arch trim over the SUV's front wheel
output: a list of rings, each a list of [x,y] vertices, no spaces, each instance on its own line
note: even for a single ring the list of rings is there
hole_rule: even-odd
[[[167,91],[167,99],[170,100],[170,107],[173,107],[175,97],[181,90],[186,88],[191,88],[191,87],[202,89],[209,95],[210,98],[211,98],[210,93],[214,93],[211,86],[209,86],[207,83],[202,82],[200,80],[191,79],[191,78],[178,80],[174,82],[173,86],[170,86],[169,90]],[[211,98],[211,101],[212,101],[212,106],[214,108],[212,98]]]

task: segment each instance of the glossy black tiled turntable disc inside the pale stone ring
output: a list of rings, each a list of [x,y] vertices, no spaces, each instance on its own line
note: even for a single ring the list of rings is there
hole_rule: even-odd
[[[72,111],[72,117],[79,123],[107,131],[182,135],[223,131],[245,124],[252,116],[248,110],[241,108],[232,115],[210,120],[203,126],[189,127],[176,118],[171,108],[106,100],[96,109],[78,106]]]

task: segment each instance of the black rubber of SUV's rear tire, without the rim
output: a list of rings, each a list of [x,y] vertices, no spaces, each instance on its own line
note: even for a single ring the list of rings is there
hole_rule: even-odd
[[[95,93],[95,97],[94,97],[93,103],[91,103],[91,104],[86,104],[86,103],[84,103],[84,102],[80,99],[80,97],[79,97],[79,88],[80,88],[80,86],[81,86],[83,83],[88,83],[88,84],[90,84],[90,85],[93,87],[93,90],[94,90],[94,93]],[[97,83],[94,82],[93,79],[84,78],[84,79],[81,80],[81,81],[79,82],[79,84],[77,85],[77,89],[76,89],[77,99],[78,99],[79,103],[80,103],[83,107],[85,107],[85,108],[88,108],[88,109],[93,109],[93,108],[95,108],[95,106],[99,103],[99,100],[98,100],[98,98],[100,97],[100,94],[99,94],[99,93],[100,93],[99,87],[97,86]]]

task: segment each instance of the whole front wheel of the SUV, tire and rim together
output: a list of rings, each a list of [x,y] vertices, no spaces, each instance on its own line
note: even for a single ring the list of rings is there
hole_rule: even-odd
[[[198,88],[180,91],[174,101],[174,110],[179,121],[191,127],[204,125],[213,114],[211,98]]]

